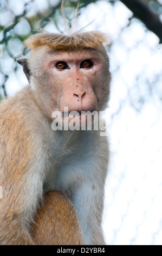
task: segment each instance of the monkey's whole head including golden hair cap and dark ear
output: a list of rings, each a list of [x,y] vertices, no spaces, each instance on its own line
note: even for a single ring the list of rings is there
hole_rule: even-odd
[[[38,33],[25,41],[31,49],[18,63],[28,78],[33,95],[44,114],[54,111],[102,111],[109,97],[109,59],[100,32],[70,36]]]

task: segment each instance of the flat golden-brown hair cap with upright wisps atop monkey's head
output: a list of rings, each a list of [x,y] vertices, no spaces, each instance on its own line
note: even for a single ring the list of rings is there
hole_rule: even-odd
[[[109,41],[107,34],[99,31],[83,32],[83,29],[88,25],[77,31],[78,9],[77,6],[72,27],[70,28],[64,14],[63,0],[61,3],[61,13],[67,35],[40,31],[37,34],[31,35],[30,38],[24,41],[25,47],[35,49],[46,45],[54,50],[74,50],[76,48],[96,48],[103,46],[103,42]]]

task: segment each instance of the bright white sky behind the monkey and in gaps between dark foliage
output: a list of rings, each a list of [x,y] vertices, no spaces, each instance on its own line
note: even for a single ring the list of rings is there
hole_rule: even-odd
[[[21,13],[22,5],[15,7],[13,2],[9,1],[10,8]],[[40,11],[46,6],[45,0],[35,1]],[[126,27],[131,16],[119,1],[114,7],[98,1],[82,10],[78,22],[81,28],[95,19],[86,29],[106,32],[112,41],[112,92],[106,111],[112,155],[103,229],[109,245],[162,245],[162,47],[158,47],[157,36],[137,19]],[[0,23],[2,20],[0,14]],[[59,26],[63,27],[61,20]],[[52,23],[46,29],[56,31]],[[14,48],[11,42],[10,46],[15,55],[22,52],[21,42],[16,45],[19,47]],[[7,54],[2,62],[2,70],[10,75],[7,93],[12,95],[27,79],[21,67],[16,74],[12,72],[13,61]]]

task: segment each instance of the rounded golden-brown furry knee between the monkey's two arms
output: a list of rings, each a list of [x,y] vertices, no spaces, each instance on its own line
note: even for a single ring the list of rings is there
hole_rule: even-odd
[[[63,191],[45,193],[34,221],[36,245],[82,245],[76,210]]]

